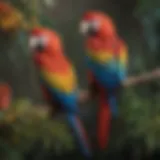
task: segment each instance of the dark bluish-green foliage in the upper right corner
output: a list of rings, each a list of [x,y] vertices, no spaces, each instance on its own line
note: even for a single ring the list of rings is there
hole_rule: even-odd
[[[143,34],[147,42],[147,48],[152,52],[152,54],[154,54],[154,56],[150,54],[148,58],[155,63],[155,61],[158,60],[159,55],[160,1],[138,1],[135,9],[135,16],[143,26]]]

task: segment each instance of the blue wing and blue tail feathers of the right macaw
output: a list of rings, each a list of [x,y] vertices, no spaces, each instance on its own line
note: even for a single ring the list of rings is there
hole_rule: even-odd
[[[87,57],[87,64],[97,82],[106,89],[106,100],[109,103],[111,113],[114,117],[117,117],[118,107],[115,89],[117,89],[125,79],[125,69],[119,67],[116,59],[109,63],[100,64]]]

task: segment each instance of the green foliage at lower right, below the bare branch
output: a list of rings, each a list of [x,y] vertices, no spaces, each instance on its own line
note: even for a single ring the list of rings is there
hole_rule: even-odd
[[[125,136],[143,137],[148,147],[154,149],[160,147],[160,94],[149,95],[149,92],[144,94],[143,87],[146,86],[125,90],[122,97],[122,115],[127,123]],[[146,91],[148,88],[146,87]],[[149,96],[150,99],[148,99]]]

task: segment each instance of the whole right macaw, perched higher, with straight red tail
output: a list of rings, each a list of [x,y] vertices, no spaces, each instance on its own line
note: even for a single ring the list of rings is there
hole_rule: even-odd
[[[126,77],[127,47],[112,19],[99,11],[84,13],[80,32],[85,36],[89,86],[99,98],[97,136],[99,147],[104,149],[111,118],[118,114],[116,94]]]

